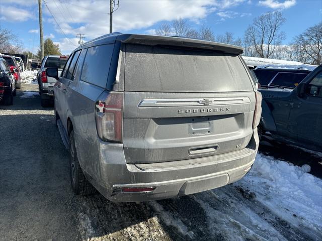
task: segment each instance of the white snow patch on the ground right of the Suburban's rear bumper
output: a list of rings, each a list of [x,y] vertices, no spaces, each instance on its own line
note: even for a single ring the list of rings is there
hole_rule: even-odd
[[[258,154],[250,173],[238,185],[250,189],[272,212],[298,227],[322,230],[322,180],[294,166]]]

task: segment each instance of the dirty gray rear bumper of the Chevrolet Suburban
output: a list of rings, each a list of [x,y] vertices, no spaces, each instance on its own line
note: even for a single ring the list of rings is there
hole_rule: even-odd
[[[122,144],[99,141],[100,173],[87,174],[92,184],[111,201],[149,201],[193,194],[243,178],[257,154],[257,129],[247,148],[235,152],[155,164],[127,164]],[[122,160],[122,161],[120,161]],[[155,188],[149,192],[124,192],[123,188]]]

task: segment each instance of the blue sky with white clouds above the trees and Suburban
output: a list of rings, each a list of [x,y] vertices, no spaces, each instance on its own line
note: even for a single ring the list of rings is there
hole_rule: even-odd
[[[109,32],[108,0],[43,1],[44,36],[59,44],[63,54],[77,46],[77,33],[85,40]],[[282,11],[286,18],[283,44],[322,21],[322,0],[120,0],[114,13],[113,31],[153,33],[161,23],[186,19],[193,28],[210,27],[215,35],[232,32],[243,37],[253,19],[268,11]],[[39,48],[37,0],[1,0],[0,28],[17,34],[24,47],[33,52]]]

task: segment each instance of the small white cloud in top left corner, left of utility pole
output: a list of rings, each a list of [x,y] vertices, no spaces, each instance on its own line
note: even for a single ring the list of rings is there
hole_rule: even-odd
[[[19,9],[10,6],[1,6],[0,20],[7,22],[23,22],[34,18],[33,15],[24,9]]]

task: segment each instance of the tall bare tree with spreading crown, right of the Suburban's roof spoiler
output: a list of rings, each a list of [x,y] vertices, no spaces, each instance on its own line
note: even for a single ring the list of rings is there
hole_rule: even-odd
[[[245,32],[245,39],[251,43],[259,57],[269,58],[285,38],[280,27],[285,18],[279,11],[268,12],[254,19]]]

